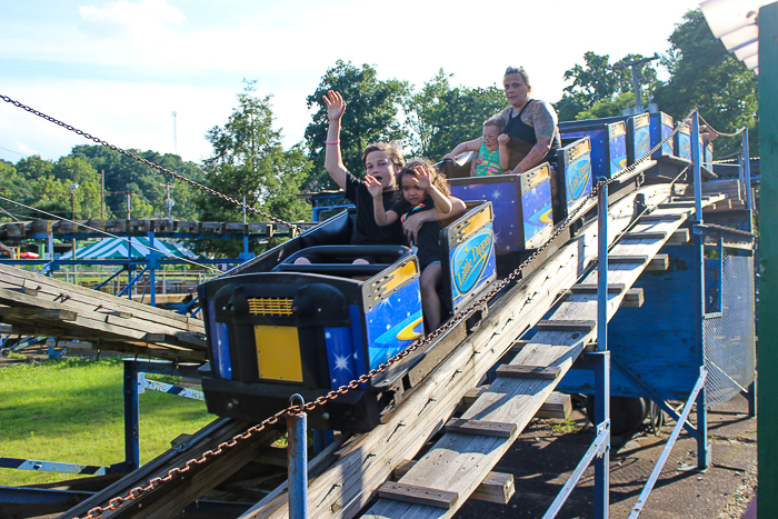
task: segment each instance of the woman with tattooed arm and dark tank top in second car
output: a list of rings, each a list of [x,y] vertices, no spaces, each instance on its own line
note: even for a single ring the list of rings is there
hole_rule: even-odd
[[[510,136],[510,170],[522,173],[541,162],[556,162],[561,148],[557,112],[546,101],[530,98],[532,87],[525,69],[508,67],[502,80],[510,108],[497,117]]]

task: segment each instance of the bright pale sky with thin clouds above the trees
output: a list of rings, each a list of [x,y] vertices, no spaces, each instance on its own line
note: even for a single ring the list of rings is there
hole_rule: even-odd
[[[532,97],[555,102],[585,52],[611,62],[667,52],[698,3],[0,0],[0,94],[120,148],[199,162],[243,79],[257,80],[258,96],[272,94],[276,129],[291,147],[311,121],[306,98],[339,59],[417,89],[440,68],[452,84],[475,88],[522,66]],[[57,160],[83,143],[0,100],[0,159]]]

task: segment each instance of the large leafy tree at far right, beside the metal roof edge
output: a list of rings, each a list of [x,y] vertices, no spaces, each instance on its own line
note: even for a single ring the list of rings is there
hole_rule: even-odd
[[[759,149],[757,76],[725,49],[708,28],[699,9],[684,16],[669,38],[670,50],[662,63],[672,74],[656,92],[659,109],[676,119],[695,107],[717,130],[731,133],[748,127],[750,149]],[[716,156],[740,149],[740,138],[720,138]]]

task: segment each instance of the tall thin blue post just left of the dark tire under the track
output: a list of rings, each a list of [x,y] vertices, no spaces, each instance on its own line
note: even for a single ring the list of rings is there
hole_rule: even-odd
[[[595,459],[595,517],[607,518],[610,505],[610,352],[608,351],[608,184],[598,191],[597,353],[595,368],[595,423],[606,433]]]

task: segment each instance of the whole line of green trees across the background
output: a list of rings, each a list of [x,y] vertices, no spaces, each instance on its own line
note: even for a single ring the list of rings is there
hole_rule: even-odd
[[[698,10],[689,11],[668,39],[660,67],[670,74],[660,81],[654,62],[639,66],[641,99],[655,102],[675,119],[697,107],[716,129],[732,132],[749,128],[751,149],[758,149],[756,124],[757,77],[715,39]],[[560,120],[618,116],[635,102],[631,71],[615,66],[640,60],[627,54],[611,63],[608,54],[586,52],[582,63],[565,71],[568,86],[552,103]],[[531,71],[530,71],[531,72]],[[247,204],[287,221],[310,220],[310,206],[300,192],[337,189],[323,170],[327,113],[321,96],[340,91],[349,103],[343,116],[341,148],[346,166],[361,176],[361,151],[369,142],[398,140],[408,156],[439,160],[457,143],[478,137],[483,121],[507,106],[501,86],[468,88],[452,84],[452,76],[440,69],[420,88],[398,79],[378,79],[369,64],[337,61],[322,76],[308,99],[315,109],[305,142],[285,149],[281,133],[273,130],[271,98],[259,96],[256,82],[247,81],[237,106],[223,126],[208,131],[212,154],[202,163],[176,154],[130,150],[171,171],[240,199]],[[739,149],[739,139],[719,139],[716,158]],[[126,218],[127,194],[132,218],[167,217],[166,186],[170,182],[172,217],[182,220],[238,221],[241,210],[181,181],[99,146],[77,146],[57,161],[38,156],[16,164],[0,160],[0,190],[33,208],[58,217],[100,218],[100,172],[106,172],[106,218]],[[70,186],[78,184],[77,190]],[[72,207],[71,207],[72,202]],[[0,218],[37,219],[0,203]],[[249,212],[249,221],[262,217]],[[237,243],[198,243],[201,250],[237,254]],[[256,252],[263,246],[256,246]],[[236,249],[236,250],[232,250]]]

